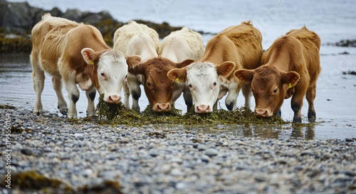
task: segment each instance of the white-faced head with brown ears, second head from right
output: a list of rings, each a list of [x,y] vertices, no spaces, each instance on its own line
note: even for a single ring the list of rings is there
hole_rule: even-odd
[[[168,77],[171,80],[187,82],[192,93],[196,113],[211,113],[219,96],[219,76],[228,76],[234,67],[235,63],[230,61],[219,65],[209,62],[196,62],[184,68],[172,69],[168,72]]]

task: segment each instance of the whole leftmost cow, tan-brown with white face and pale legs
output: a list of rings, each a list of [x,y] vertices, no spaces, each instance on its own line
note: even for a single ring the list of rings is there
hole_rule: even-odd
[[[80,89],[88,98],[87,116],[95,115],[95,88],[108,103],[120,102],[120,91],[128,68],[140,62],[140,56],[125,56],[110,48],[94,26],[44,14],[31,31],[33,48],[33,88],[36,103],[33,113],[41,115],[45,71],[52,76],[59,111],[68,118],[78,118],[75,103]],[[70,100],[69,109],[62,93],[62,78]]]

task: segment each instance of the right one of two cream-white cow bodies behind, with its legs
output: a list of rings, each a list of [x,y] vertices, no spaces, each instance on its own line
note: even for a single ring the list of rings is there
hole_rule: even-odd
[[[179,63],[188,58],[198,61],[204,53],[204,44],[201,34],[183,27],[179,31],[173,31],[166,36],[158,48],[158,56],[168,58],[169,60]],[[176,83],[173,89],[172,103],[183,92],[184,101],[187,105],[187,111],[192,108],[192,94],[186,83]]]

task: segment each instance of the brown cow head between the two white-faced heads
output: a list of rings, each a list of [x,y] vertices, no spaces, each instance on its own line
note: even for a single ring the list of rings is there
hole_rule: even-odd
[[[173,87],[175,81],[167,77],[172,68],[182,68],[194,62],[192,59],[174,63],[167,58],[151,58],[129,70],[134,75],[145,77],[143,87],[153,111],[157,113],[171,111]]]

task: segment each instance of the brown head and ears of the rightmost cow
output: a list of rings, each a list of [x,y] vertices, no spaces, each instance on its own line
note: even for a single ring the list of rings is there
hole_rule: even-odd
[[[261,66],[255,70],[239,69],[234,75],[244,83],[251,83],[255,98],[255,116],[270,117],[281,108],[284,98],[294,92],[299,81],[295,71],[280,71],[273,66]]]

